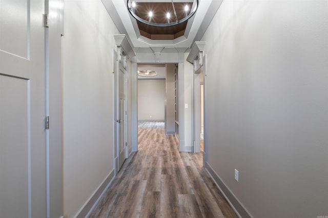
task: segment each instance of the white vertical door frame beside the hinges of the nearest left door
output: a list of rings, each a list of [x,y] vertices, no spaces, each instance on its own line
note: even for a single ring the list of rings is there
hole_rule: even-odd
[[[47,216],[63,216],[61,36],[64,35],[64,0],[45,0],[46,29]]]

